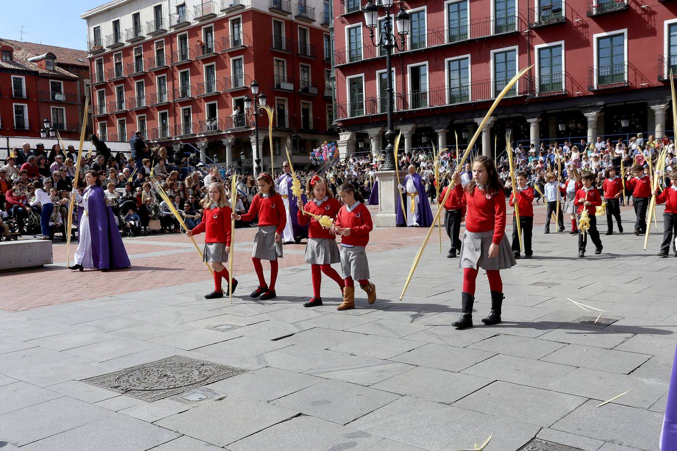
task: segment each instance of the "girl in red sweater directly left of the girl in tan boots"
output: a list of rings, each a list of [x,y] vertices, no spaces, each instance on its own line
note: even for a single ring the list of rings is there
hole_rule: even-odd
[[[308,179],[305,184],[305,193],[310,200],[305,206],[303,206],[301,199],[297,201],[299,206],[297,214],[299,224],[302,226],[309,225],[308,243],[305,246],[305,262],[310,264],[313,298],[303,306],[315,307],[322,305],[322,297],[320,296],[322,272],[339,284],[341,298],[343,298],[345,283],[339,273],[332,268],[333,263],[341,262],[339,247],[336,246],[336,234],[333,230],[322,227],[320,222],[309,214],[303,214],[303,210],[317,216],[329,216],[335,219],[336,214],[341,210],[341,203],[334,199],[334,194],[327,189],[326,180],[316,175]]]

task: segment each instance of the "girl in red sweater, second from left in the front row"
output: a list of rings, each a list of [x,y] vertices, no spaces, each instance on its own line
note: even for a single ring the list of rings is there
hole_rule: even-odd
[[[233,213],[236,220],[250,221],[259,216],[259,231],[254,237],[252,262],[256,275],[259,277],[259,287],[252,291],[250,296],[261,300],[276,297],[275,282],[278,279],[278,258],[282,258],[282,231],[287,223],[287,214],[284,210],[282,196],[275,192],[272,177],[267,172],[261,172],[256,179],[259,192],[254,196],[249,211],[246,214]],[[270,261],[270,285],[265,283],[261,260]]]

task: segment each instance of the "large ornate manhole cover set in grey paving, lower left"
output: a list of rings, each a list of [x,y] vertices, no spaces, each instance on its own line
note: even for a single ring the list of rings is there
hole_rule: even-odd
[[[152,402],[246,371],[235,366],[172,356],[114,373],[89,377],[83,379],[83,382]]]

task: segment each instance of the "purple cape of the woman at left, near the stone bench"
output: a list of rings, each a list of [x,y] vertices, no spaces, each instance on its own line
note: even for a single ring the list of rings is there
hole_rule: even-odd
[[[94,268],[118,269],[129,268],[131,263],[123,239],[115,223],[112,208],[106,204],[106,195],[102,187],[89,187],[91,190],[87,202],[87,218],[89,218],[89,233],[91,239],[91,259]],[[87,190],[85,190],[87,191]],[[78,229],[82,221],[84,209],[78,207]],[[78,233],[80,239],[80,233]]]

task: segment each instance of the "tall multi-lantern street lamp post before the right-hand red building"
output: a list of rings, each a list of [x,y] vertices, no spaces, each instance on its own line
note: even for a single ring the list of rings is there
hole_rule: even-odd
[[[378,26],[378,11],[385,9],[385,19],[383,22],[383,29]],[[393,155],[395,149],[395,130],[393,130],[393,65],[391,57],[393,49],[399,51],[405,47],[406,36],[409,33],[409,13],[405,11],[402,2],[399,2],[399,12],[395,15],[395,4],[392,0],[382,0],[378,5],[374,4],[373,0],[369,0],[362,9],[364,13],[364,22],[369,28],[369,34],[372,43],[376,47],[383,47],[386,51],[386,91],[387,91],[387,118],[388,130],[385,133],[385,138],[388,145],[385,147],[383,164],[381,170],[395,170],[395,156]],[[399,34],[400,43],[397,44],[397,37],[395,36],[395,27],[393,27],[393,17],[397,22],[397,34]],[[374,36],[374,30],[378,26],[378,38]]]

